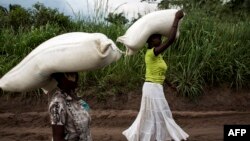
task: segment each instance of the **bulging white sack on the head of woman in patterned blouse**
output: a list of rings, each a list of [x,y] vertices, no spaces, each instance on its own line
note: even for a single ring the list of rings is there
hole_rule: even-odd
[[[50,89],[55,72],[80,72],[105,67],[121,57],[112,40],[101,33],[66,33],[45,41],[0,79],[0,88],[21,92]]]

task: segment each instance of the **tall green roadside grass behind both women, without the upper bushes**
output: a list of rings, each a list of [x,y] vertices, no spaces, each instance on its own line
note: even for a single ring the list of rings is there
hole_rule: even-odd
[[[181,26],[181,36],[164,53],[169,69],[167,79],[177,86],[179,93],[195,98],[205,86],[228,84],[232,88],[248,87],[250,81],[250,23],[249,20],[228,22],[208,17],[203,11],[188,13]],[[93,21],[78,21],[69,31],[100,32],[113,41],[125,33],[124,25]],[[56,25],[1,30],[0,76],[20,62],[43,41],[63,32]],[[118,47],[124,50],[122,44]],[[144,53],[122,57],[103,69],[82,72],[81,89],[96,89],[100,97],[107,93],[122,93],[141,88],[144,81]]]

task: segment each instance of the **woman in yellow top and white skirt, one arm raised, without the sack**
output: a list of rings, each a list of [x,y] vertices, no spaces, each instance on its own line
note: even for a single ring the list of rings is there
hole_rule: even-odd
[[[134,123],[123,132],[128,141],[180,141],[188,138],[188,134],[175,123],[164,96],[163,83],[167,65],[161,55],[174,42],[178,23],[183,16],[181,10],[175,14],[171,34],[165,43],[161,44],[160,34],[153,34],[147,40],[146,80],[142,89],[140,111]]]

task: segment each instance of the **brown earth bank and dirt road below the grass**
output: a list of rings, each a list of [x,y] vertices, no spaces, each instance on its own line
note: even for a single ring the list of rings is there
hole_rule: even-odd
[[[250,91],[226,87],[207,89],[191,101],[166,91],[173,116],[189,135],[189,141],[223,141],[226,124],[250,125]],[[90,95],[95,95],[87,91]],[[91,106],[94,141],[126,141],[122,131],[134,121],[141,90],[99,100],[85,97]],[[44,141],[51,139],[46,95],[16,94],[0,97],[0,141]]]

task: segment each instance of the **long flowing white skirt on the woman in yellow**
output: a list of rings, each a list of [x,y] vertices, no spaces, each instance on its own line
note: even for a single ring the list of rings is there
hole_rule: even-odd
[[[140,111],[134,123],[122,134],[128,141],[186,140],[188,134],[174,121],[163,86],[145,82]]]

